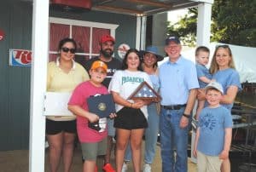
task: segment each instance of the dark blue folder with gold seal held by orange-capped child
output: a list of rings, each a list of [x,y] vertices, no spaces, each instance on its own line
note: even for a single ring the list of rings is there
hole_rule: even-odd
[[[115,113],[113,96],[111,94],[91,96],[87,99],[87,105],[89,112],[95,113],[100,118],[107,118],[110,113]]]

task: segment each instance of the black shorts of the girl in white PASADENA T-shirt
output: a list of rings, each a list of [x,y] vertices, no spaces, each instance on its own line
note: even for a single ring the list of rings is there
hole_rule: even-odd
[[[145,129],[148,127],[148,122],[140,109],[123,107],[117,112],[113,126],[118,129]]]

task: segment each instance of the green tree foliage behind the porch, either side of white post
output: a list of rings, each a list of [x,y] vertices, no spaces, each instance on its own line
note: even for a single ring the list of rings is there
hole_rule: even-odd
[[[212,4],[211,41],[256,47],[256,0],[215,0]],[[195,46],[197,9],[189,9],[177,23],[169,23],[168,35]]]

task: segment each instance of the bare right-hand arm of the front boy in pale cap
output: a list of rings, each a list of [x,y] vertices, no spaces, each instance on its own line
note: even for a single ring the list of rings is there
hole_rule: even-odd
[[[232,139],[232,128],[226,128],[225,129],[225,138],[224,138],[224,149],[218,155],[218,157],[220,159],[229,158],[231,139]]]

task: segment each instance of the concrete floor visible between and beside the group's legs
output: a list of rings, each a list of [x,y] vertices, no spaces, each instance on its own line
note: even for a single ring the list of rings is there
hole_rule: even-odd
[[[27,172],[28,171],[28,151],[27,150],[17,150],[17,151],[7,151],[0,152],[0,172]],[[112,156],[112,163],[114,163],[114,158]],[[82,160],[81,152],[79,147],[75,149],[72,172],[82,171]],[[196,171],[195,163],[191,163],[188,159],[189,172]],[[102,164],[98,163],[98,171],[100,170]],[[49,172],[49,163],[48,163],[48,149],[45,152],[45,172]],[[59,172],[62,172],[63,169],[60,168]],[[142,164],[143,171],[143,164]],[[160,146],[157,146],[157,152],[154,158],[154,163],[152,165],[153,172],[161,171],[161,161],[160,161]],[[132,163],[128,163],[128,172],[132,172]]]

